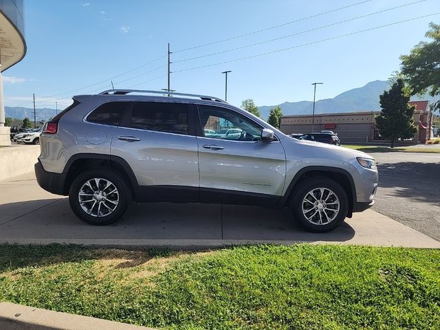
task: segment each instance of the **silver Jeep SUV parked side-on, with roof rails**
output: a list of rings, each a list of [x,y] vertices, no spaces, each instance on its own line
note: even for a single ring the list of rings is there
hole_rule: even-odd
[[[69,195],[92,225],[119,219],[132,200],[173,201],[289,206],[306,230],[327,232],[373,205],[366,153],[292,139],[218,98],[162,93],[74,96],[43,128],[39,185]],[[209,133],[223,129],[239,134]]]

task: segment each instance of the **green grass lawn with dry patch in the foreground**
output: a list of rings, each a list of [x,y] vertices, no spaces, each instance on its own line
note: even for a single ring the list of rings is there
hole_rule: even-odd
[[[440,329],[440,250],[0,245],[0,300],[163,329]]]

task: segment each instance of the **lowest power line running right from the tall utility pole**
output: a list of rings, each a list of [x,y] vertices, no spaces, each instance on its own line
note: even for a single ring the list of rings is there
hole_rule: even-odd
[[[385,25],[379,25],[379,26],[376,26],[376,27],[374,27],[374,28],[369,28],[369,29],[359,30],[359,31],[355,31],[355,32],[347,33],[347,34],[342,34],[342,35],[340,35],[340,36],[332,36],[331,38],[321,39],[321,40],[318,40],[318,41],[312,41],[312,42],[310,42],[310,43],[303,43],[302,45],[296,45],[296,46],[292,46],[292,47],[287,47],[287,48],[283,48],[283,49],[281,49],[281,50],[274,50],[274,51],[272,51],[272,52],[265,52],[265,53],[261,53],[261,54],[256,54],[256,55],[251,55],[251,56],[245,56],[245,57],[241,57],[241,58],[235,58],[234,60],[223,61],[223,62],[219,62],[219,63],[212,63],[212,64],[208,64],[208,65],[201,65],[201,66],[199,66],[199,67],[191,67],[191,68],[188,68],[188,69],[181,69],[181,70],[177,70],[177,71],[175,71],[175,73],[177,73],[177,72],[191,71],[191,70],[195,70],[195,69],[203,69],[204,67],[213,67],[214,65],[221,65],[221,64],[226,64],[226,63],[232,63],[232,62],[237,62],[237,61],[243,61],[243,60],[247,60],[247,59],[250,59],[250,58],[256,58],[256,57],[265,56],[265,55],[269,55],[269,54],[275,54],[275,53],[278,53],[278,52],[285,52],[285,51],[287,51],[287,50],[293,50],[293,49],[295,49],[295,48],[305,47],[305,46],[308,46],[308,45],[314,45],[314,44],[316,44],[316,43],[322,43],[322,42],[324,42],[324,41],[330,41],[330,40],[334,40],[334,39],[340,39],[340,38],[343,38],[344,36],[352,36],[353,34],[360,34],[360,33],[363,33],[363,32],[368,32],[368,31],[372,31],[372,30],[377,30],[377,29],[380,29],[380,28],[386,28],[386,27],[391,26],[391,25],[397,25],[397,24],[401,24],[401,23],[405,23],[405,22],[409,22],[409,21],[415,21],[416,19],[423,19],[423,18],[425,18],[425,17],[431,17],[431,16],[438,15],[438,14],[440,14],[440,12],[436,12],[436,13],[434,13],[434,14],[428,14],[428,15],[424,15],[424,16],[419,16],[419,17],[414,17],[414,18],[412,18],[412,19],[405,19],[405,20],[403,20],[403,21],[398,21],[398,22],[389,23],[389,24],[385,24]]]

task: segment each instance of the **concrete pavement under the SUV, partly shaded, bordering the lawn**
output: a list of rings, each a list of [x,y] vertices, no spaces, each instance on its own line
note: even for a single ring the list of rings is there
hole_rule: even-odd
[[[288,209],[214,204],[133,203],[117,223],[87,225],[67,198],[39,188],[34,173],[0,181],[0,243],[211,248],[230,244],[335,243],[440,248],[440,242],[366,210],[326,234],[298,228]]]

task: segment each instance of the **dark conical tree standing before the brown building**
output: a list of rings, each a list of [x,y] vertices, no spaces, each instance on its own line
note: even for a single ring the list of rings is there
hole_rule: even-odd
[[[382,112],[376,116],[376,126],[379,133],[391,140],[391,148],[397,138],[409,139],[417,132],[414,124],[415,107],[410,107],[410,96],[404,91],[404,80],[397,78],[391,89],[380,96]]]

